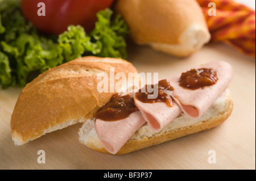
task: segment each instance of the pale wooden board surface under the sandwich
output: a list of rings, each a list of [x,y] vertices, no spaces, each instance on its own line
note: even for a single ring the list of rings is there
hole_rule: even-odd
[[[234,68],[230,91],[232,115],[222,125],[126,155],[108,155],[80,144],[76,124],[48,133],[22,146],[11,140],[10,119],[22,89],[0,90],[0,169],[255,169],[255,58],[225,44],[209,44],[188,58],[176,58],[149,47],[129,44],[129,58],[138,71],[159,73],[159,79],[210,61]],[[38,163],[39,150],[46,163]],[[216,163],[209,163],[214,150]]]

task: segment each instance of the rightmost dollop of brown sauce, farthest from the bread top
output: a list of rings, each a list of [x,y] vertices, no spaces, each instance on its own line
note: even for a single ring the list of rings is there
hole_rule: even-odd
[[[187,89],[195,90],[214,85],[217,81],[217,73],[213,69],[191,69],[181,74],[179,85]]]

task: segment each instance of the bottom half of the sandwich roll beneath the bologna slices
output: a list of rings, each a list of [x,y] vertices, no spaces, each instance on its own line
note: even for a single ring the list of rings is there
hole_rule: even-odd
[[[157,133],[153,132],[148,127],[147,123],[144,124],[134,133],[130,140],[123,145],[117,155],[130,153],[174,140],[175,138],[217,127],[228,119],[232,110],[233,101],[230,96],[230,91],[226,89],[199,119],[191,119],[184,113],[181,113],[172,123],[168,124],[162,131]],[[88,119],[82,125],[79,131],[79,141],[90,149],[110,154],[97,137],[94,129],[94,119]]]

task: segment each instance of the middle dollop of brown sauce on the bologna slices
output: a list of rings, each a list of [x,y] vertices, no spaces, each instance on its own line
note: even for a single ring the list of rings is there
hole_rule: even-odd
[[[146,86],[146,92],[142,92],[142,90],[139,90],[139,92],[135,94],[136,98],[143,103],[164,102],[167,104],[167,106],[172,107],[173,106],[172,98],[167,94],[167,90],[172,91],[174,90],[174,88],[170,85],[169,82],[167,82],[166,79],[159,81],[157,86],[158,86],[157,98],[155,99],[148,98],[148,94],[152,95],[154,94],[154,92],[148,92],[147,86]]]

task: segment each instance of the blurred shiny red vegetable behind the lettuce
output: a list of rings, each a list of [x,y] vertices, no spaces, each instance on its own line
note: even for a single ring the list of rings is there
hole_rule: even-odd
[[[80,24],[86,32],[93,30],[96,13],[112,5],[114,0],[22,0],[24,16],[39,30],[58,35],[71,24]],[[45,16],[42,3],[45,5]]]

